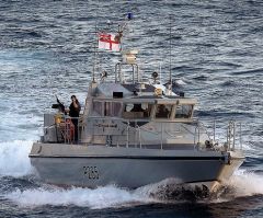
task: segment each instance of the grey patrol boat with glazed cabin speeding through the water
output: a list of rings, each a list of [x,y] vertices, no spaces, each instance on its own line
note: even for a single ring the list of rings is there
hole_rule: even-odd
[[[242,164],[235,123],[228,126],[225,144],[214,141],[193,117],[195,99],[176,94],[171,82],[161,84],[157,72],[142,81],[137,53],[123,53],[113,80],[106,72],[93,78],[77,142],[71,117],[59,112],[44,115],[44,136],[30,153],[42,181],[136,188],[173,179],[176,185],[211,192]]]

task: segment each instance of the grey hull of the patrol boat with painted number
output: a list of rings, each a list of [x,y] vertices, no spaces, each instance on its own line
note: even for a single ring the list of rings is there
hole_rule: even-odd
[[[41,179],[56,185],[135,188],[164,179],[183,183],[215,183],[228,179],[242,163],[229,153],[34,144],[31,162]],[[211,187],[208,187],[211,188]]]

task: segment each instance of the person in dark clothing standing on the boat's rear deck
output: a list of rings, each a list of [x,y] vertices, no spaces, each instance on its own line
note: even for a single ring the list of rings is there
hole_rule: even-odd
[[[72,117],[71,122],[75,125],[75,140],[78,141],[78,124],[81,106],[76,95],[71,96],[71,101],[72,102],[69,106],[69,116]]]

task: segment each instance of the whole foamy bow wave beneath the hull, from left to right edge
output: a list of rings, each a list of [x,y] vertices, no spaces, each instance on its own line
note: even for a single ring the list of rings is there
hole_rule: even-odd
[[[237,197],[263,195],[263,176],[239,170],[233,177],[214,195],[205,190],[193,190],[190,186],[172,185],[174,180],[149,184],[134,191],[107,185],[95,190],[71,187],[68,190],[42,184],[33,188],[15,187],[2,194],[2,198],[13,202],[20,207],[78,206],[91,209],[133,207],[147,204],[179,204],[184,202],[221,203]],[[176,182],[176,181],[175,181]]]

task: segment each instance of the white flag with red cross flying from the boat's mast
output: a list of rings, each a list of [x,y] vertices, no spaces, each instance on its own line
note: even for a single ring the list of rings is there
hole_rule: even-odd
[[[99,48],[119,51],[121,37],[114,34],[99,33]]]

